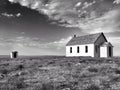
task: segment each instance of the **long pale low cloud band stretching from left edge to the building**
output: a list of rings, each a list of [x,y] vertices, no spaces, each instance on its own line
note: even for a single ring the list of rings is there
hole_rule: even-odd
[[[17,48],[38,48],[38,49],[51,49],[51,50],[60,50],[65,47],[67,42],[72,37],[62,38],[58,41],[53,42],[42,42],[39,38],[34,37],[26,37],[26,36],[18,36],[15,38],[1,38],[0,39],[0,46],[6,47],[9,46],[11,50],[16,50]]]

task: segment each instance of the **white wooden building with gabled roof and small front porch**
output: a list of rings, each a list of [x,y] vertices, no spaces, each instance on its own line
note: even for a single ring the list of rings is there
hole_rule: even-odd
[[[75,35],[66,44],[66,56],[113,57],[113,46],[103,33]]]

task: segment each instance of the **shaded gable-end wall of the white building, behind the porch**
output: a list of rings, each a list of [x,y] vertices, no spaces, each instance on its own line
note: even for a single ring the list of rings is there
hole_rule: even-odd
[[[105,39],[105,37],[101,34],[101,36],[97,39],[97,41],[95,42],[95,46],[97,45],[97,52],[95,50],[94,52],[94,56],[95,57],[100,57],[100,45],[104,42],[107,42],[107,40]]]

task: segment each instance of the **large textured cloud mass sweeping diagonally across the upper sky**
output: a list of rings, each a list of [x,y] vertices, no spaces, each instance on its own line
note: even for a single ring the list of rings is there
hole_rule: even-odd
[[[83,32],[118,31],[120,0],[9,0],[35,9],[60,26],[78,27]]]

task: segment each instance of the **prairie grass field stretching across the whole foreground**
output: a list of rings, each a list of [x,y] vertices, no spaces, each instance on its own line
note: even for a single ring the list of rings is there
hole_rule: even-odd
[[[120,58],[0,57],[0,90],[120,90]]]

